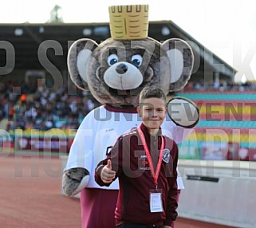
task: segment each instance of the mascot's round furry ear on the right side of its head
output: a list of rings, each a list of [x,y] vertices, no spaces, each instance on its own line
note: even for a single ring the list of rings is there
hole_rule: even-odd
[[[171,65],[170,91],[180,90],[191,77],[194,64],[192,49],[187,42],[178,38],[168,39],[162,46]]]

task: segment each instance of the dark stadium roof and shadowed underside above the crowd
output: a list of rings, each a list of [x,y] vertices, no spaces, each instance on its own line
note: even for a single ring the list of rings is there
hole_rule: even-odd
[[[66,58],[70,44],[88,37],[100,43],[110,37],[108,23],[59,23],[59,24],[0,24],[0,75],[10,69],[45,69],[51,67],[66,70]],[[158,41],[178,37],[188,41],[195,53],[193,78],[220,77],[234,81],[234,70],[188,33],[171,21],[149,22],[148,37]],[[49,62],[50,61],[50,62]],[[210,79],[211,80],[211,79]]]

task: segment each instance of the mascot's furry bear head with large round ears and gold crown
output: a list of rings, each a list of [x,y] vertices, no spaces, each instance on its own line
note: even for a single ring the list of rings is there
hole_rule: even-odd
[[[69,49],[69,73],[78,88],[89,90],[101,104],[136,108],[145,86],[167,94],[187,84],[191,47],[176,38],[148,37],[148,5],[110,6],[109,15],[110,38],[100,44],[82,38]]]

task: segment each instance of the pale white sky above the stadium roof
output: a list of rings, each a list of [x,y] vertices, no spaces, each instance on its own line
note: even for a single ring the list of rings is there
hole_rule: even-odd
[[[256,80],[256,7],[254,0],[8,0],[0,23],[44,23],[55,5],[66,23],[109,22],[108,6],[149,5],[149,21],[171,20],[238,70],[235,81]]]

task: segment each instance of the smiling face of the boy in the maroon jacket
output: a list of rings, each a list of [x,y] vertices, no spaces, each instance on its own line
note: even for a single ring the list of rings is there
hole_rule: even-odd
[[[137,112],[148,129],[159,129],[167,111],[164,100],[151,97],[141,102],[137,107]]]

